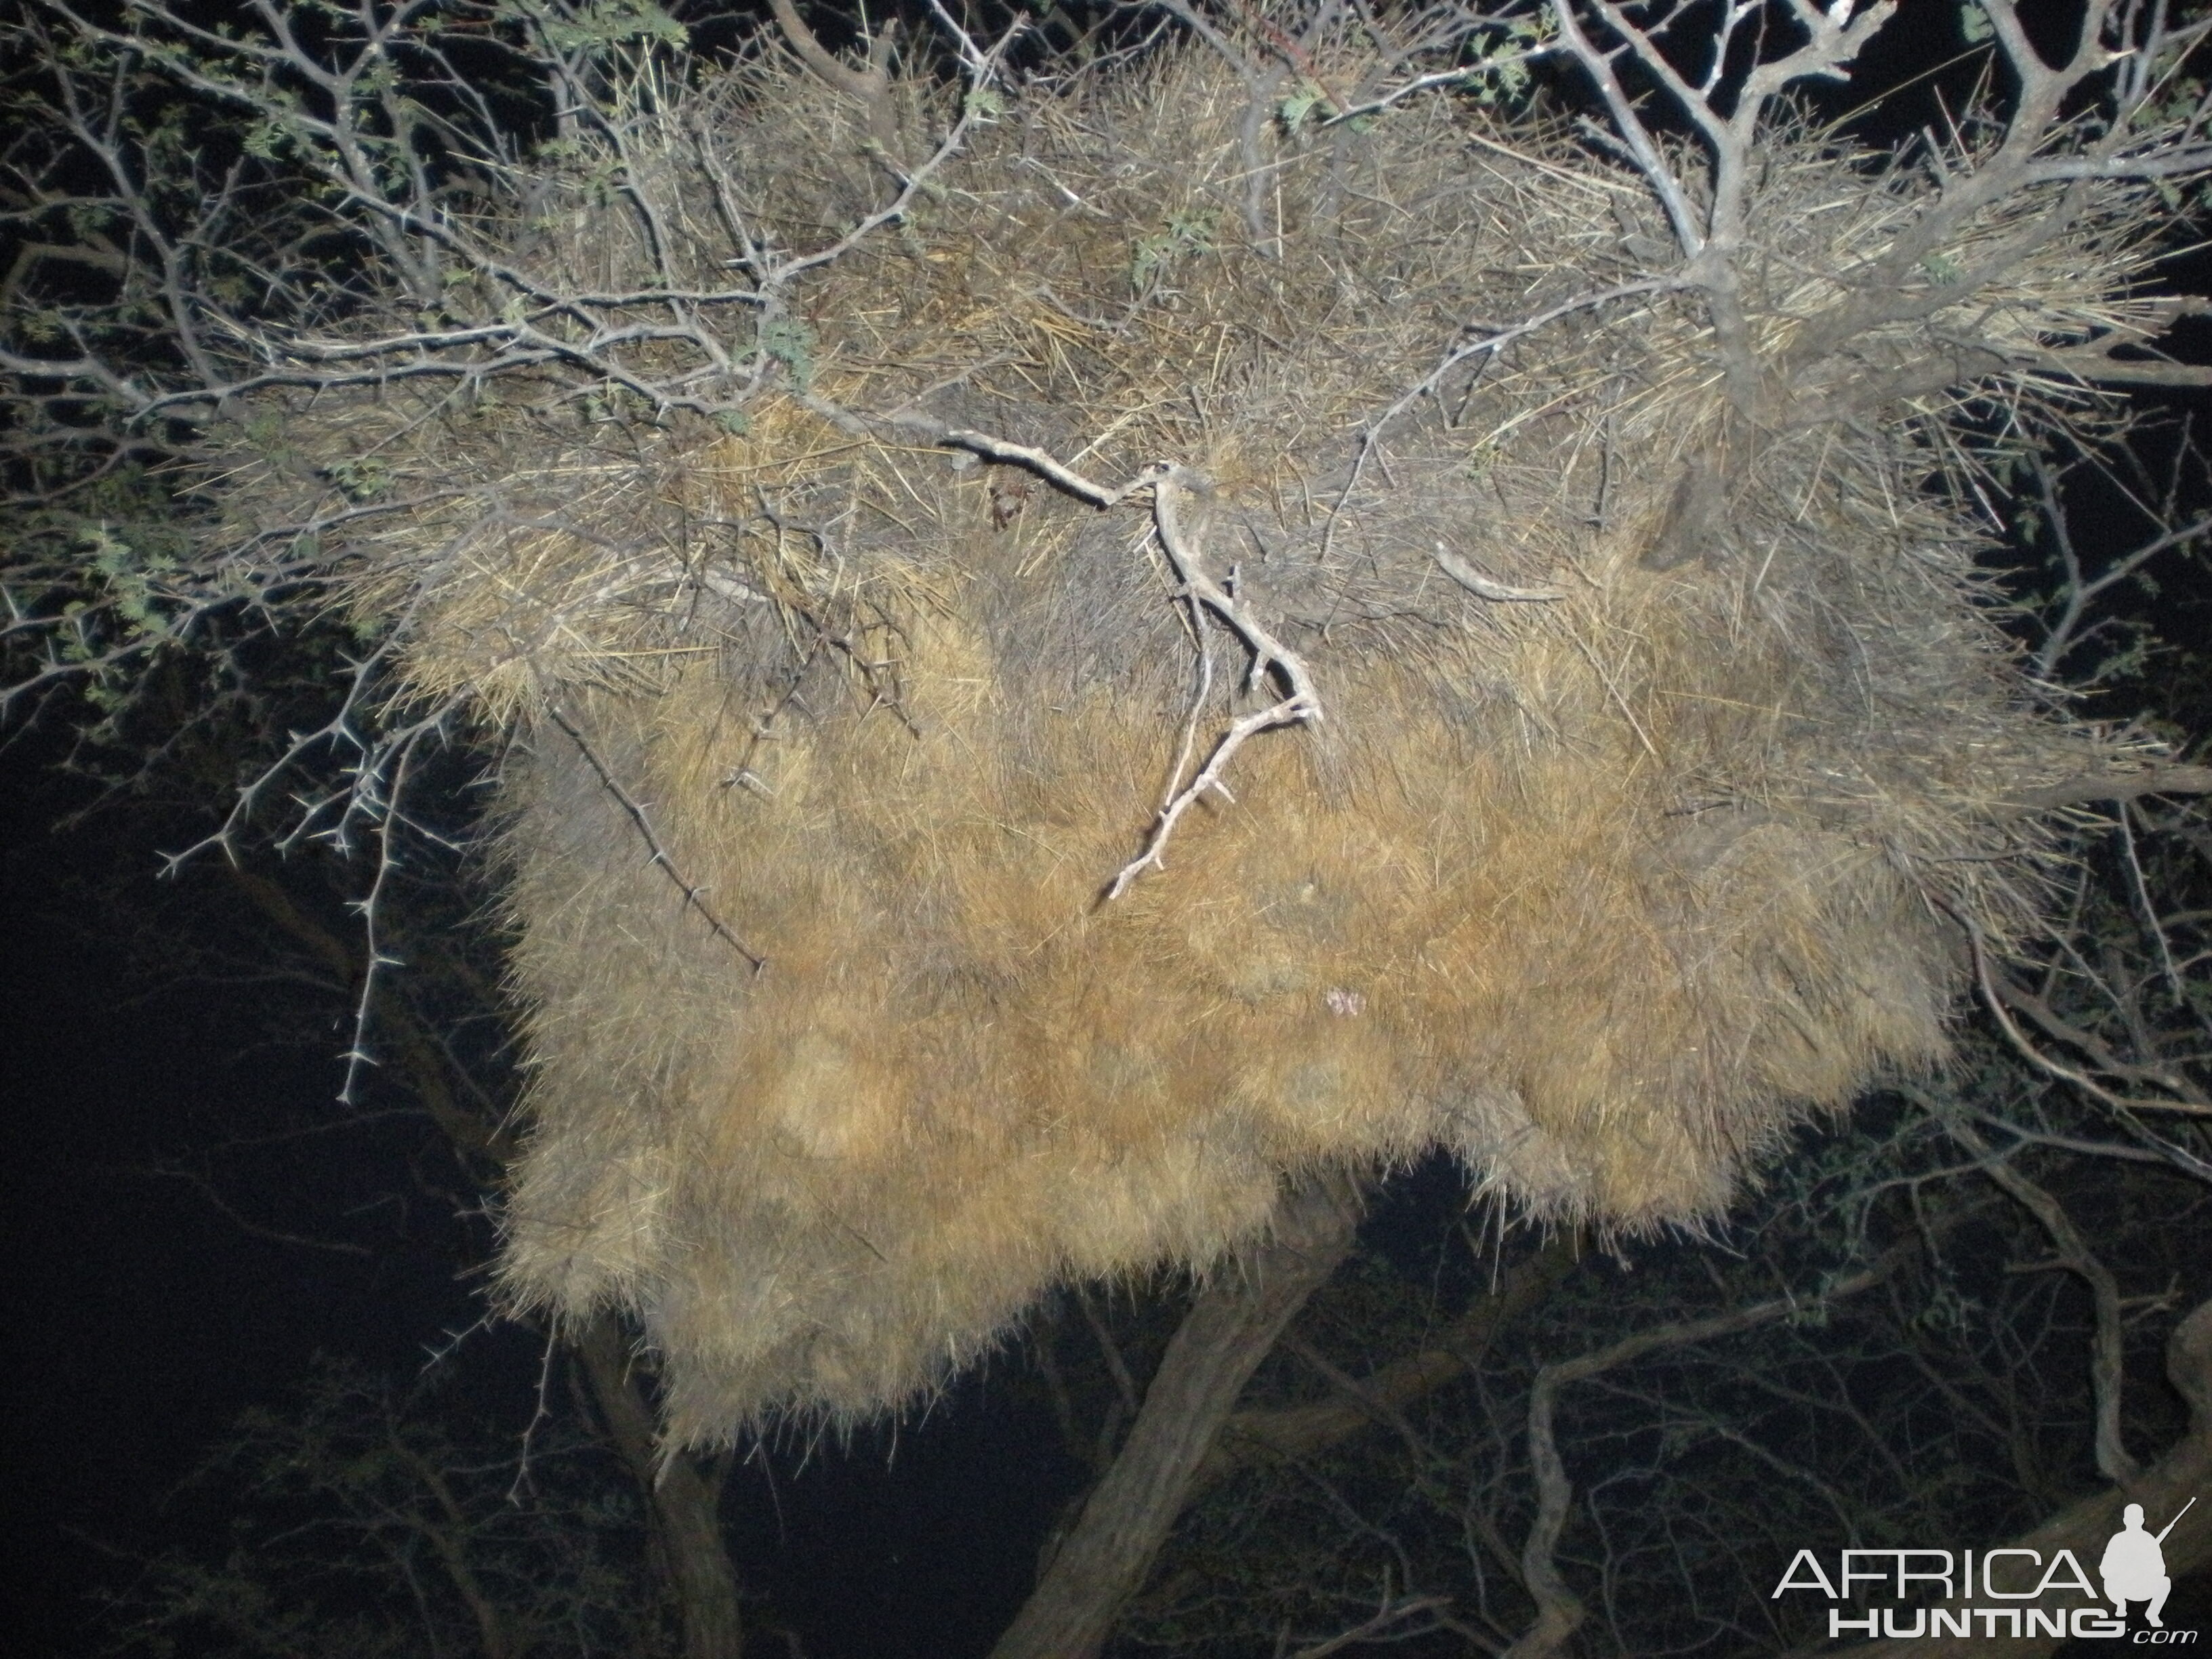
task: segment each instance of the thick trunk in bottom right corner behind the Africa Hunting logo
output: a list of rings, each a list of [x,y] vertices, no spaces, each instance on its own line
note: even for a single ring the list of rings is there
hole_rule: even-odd
[[[2048,1564],[2053,1551],[2073,1551],[2075,1559],[2095,1575],[2104,1557],[2104,1544],[2119,1531],[2121,1509],[2141,1504],[2150,1517],[2150,1531],[2159,1531],[2161,1517],[2172,1517],[2190,1498],[2192,1509],[2166,1537],[2166,1575],[2179,1584],[2199,1566],[2212,1562],[2212,1303],[2205,1303],[2174,1327],[2166,1347],[2166,1374],[2174,1389],[2190,1402],[2190,1431],[2159,1462],[2139,1473],[2126,1486],[2108,1486],[2095,1498],[2062,1509],[2033,1533],[2015,1537],[2017,1548],[2031,1548]],[[2079,1597],[2073,1597],[2079,1601]],[[2053,1595],[2037,1606],[2057,1606]],[[2110,1613],[2110,1604],[2101,1604]],[[2141,1604],[2135,1604],[2141,1613]],[[1849,1648],[1840,1659],[2035,1659],[2057,1652],[2055,1637],[1986,1637],[1975,1628],[1971,1637],[1920,1637],[1902,1641],[1874,1641]]]

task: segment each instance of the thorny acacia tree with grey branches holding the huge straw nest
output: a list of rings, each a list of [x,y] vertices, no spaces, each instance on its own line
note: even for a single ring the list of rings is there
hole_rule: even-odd
[[[451,1055],[438,1053],[436,1022],[409,1022],[396,1000],[405,993],[392,989],[398,982],[392,969],[403,956],[396,936],[405,929],[394,891],[405,880],[409,843],[425,834],[420,814],[411,816],[409,785],[442,745],[465,734],[462,706],[458,697],[387,701],[394,635],[367,630],[347,639],[327,622],[321,628],[303,624],[325,617],[338,580],[325,546],[356,538],[363,526],[374,533],[383,520],[436,507],[438,491],[425,493],[414,478],[394,480],[374,451],[319,458],[288,449],[257,396],[290,389],[336,400],[427,380],[460,396],[495,398],[502,385],[526,383],[593,420],[648,431],[684,418],[734,429],[759,396],[779,387],[803,394],[812,347],[805,325],[794,319],[794,299],[869,239],[898,234],[933,190],[949,188],[975,126],[1004,108],[1009,64],[1020,51],[1044,49],[1013,29],[993,35],[973,20],[938,13],[942,73],[958,82],[960,95],[931,102],[894,73],[900,60],[922,58],[900,33],[878,29],[858,55],[841,58],[790,4],[779,0],[774,11],[783,46],[865,111],[876,146],[869,150],[876,166],[869,192],[847,223],[827,228],[805,248],[752,241],[743,215],[732,215],[726,285],[701,288],[668,265],[657,281],[619,292],[580,283],[560,259],[540,257],[529,237],[509,230],[518,215],[529,226],[546,201],[575,190],[582,175],[586,188],[628,206],[648,246],[668,243],[668,226],[686,204],[657,195],[655,175],[628,166],[626,144],[635,135],[617,119],[622,100],[635,104],[639,88],[650,102],[661,84],[657,77],[675,84],[701,73],[679,55],[681,31],[659,11],[626,4],[259,7],[250,27],[221,31],[159,4],[126,9],[119,24],[46,7],[11,33],[20,49],[15,60],[27,64],[11,86],[11,113],[22,117],[9,153],[7,199],[18,243],[0,296],[11,330],[0,365],[13,376],[9,438],[18,484],[7,626],[20,672],[11,697],[38,706],[62,690],[82,692],[104,732],[117,737],[137,730],[133,721],[144,706],[135,699],[159,684],[159,668],[192,681],[188,719],[243,714],[252,723],[270,653],[292,650],[307,637],[323,653],[321,672],[332,697],[316,719],[268,730],[268,754],[248,770],[210,845],[241,849],[265,836],[276,847],[365,849],[372,874],[363,894],[367,938],[358,969],[349,949],[332,949],[327,931],[316,929],[321,938],[310,938],[296,907],[288,916],[288,900],[268,889],[248,887],[248,894],[279,931],[319,953],[332,973],[343,973],[363,1064],[372,1055],[407,1057],[420,1048],[425,1064],[409,1068],[409,1088],[434,1108],[438,1099],[453,1099]],[[2028,261],[2068,234],[2108,223],[2110,215],[2139,215],[2139,234],[2150,239],[2159,215],[2190,210],[2188,192],[2212,164],[2201,91],[2190,75],[2203,24],[2157,4],[2088,4],[2064,38],[2039,40],[2004,0],[1969,9],[1969,44],[1980,46],[1991,66],[1986,93],[1971,108],[1953,111],[1949,131],[1931,128],[1907,144],[1887,173],[1869,170],[1869,190],[1902,192],[1902,228],[1863,270],[1849,272],[1849,281],[1832,283],[1787,349],[1774,356],[1754,336],[1743,299],[1747,263],[1763,246],[1761,146],[1778,124],[1801,119],[1790,100],[1803,86],[1847,80],[1889,18],[1889,7],[1796,2],[1705,11],[1557,0],[1389,18],[1356,7],[1252,13],[1168,4],[1159,13],[1108,11],[1102,31],[1068,31],[1068,51],[1110,60],[1135,49],[1146,27],[1164,22],[1219,53],[1248,106],[1252,192],[1261,188],[1263,142],[1279,124],[1354,124],[1418,97],[1513,106],[1531,95],[1531,73],[1551,77],[1544,95],[1582,100],[1579,133],[1590,155],[1619,179],[1635,181],[1648,212],[1626,210],[1624,239],[1604,254],[1606,270],[1566,299],[1546,299],[1517,319],[1482,319],[1438,341],[1433,369],[1363,425],[1354,480],[1369,465],[1387,467],[1383,440],[1391,420],[1453,387],[1455,374],[1500,358],[1564,316],[1637,296],[1686,296],[1701,307],[1710,330],[1710,372],[1725,387],[1730,420],[1710,453],[1683,471],[1668,538],[1655,557],[1674,557],[1725,511],[1732,453],[1798,429],[1849,429],[1898,420],[1900,409],[1971,405],[1982,387],[2000,385],[2002,396],[1982,405],[1978,418],[1984,431],[2002,436],[1991,453],[2028,469],[2013,480],[2017,498],[2044,502],[2064,568],[2057,611],[2037,644],[2039,666],[2051,675],[2079,670],[2075,648],[2097,622],[2095,606],[2148,575],[2157,557],[2190,546],[2203,526],[2183,522],[2179,498],[2168,498],[2157,502],[2157,533],[2137,551],[2084,562],[2064,533],[2053,482],[2064,453],[2046,456],[2042,445],[2053,440],[2066,400],[2088,398],[2088,389],[2199,385],[2203,374],[2174,363],[2159,345],[2161,332],[2197,307],[2146,288],[2126,305],[2084,316],[2068,338],[2024,343],[2004,327],[2002,294]],[[1360,33],[1374,46],[1371,66],[1356,86],[1336,86],[1316,66],[1316,53],[1338,31]],[[1031,62],[1051,66],[1053,60]],[[719,159],[703,133],[692,159],[699,177],[717,177]],[[1245,206],[1254,223],[1263,221],[1265,204],[1256,195]],[[1991,215],[2006,230],[1980,241],[1969,237]],[[1199,234],[1194,226],[1181,232],[1170,226],[1181,243]],[[1953,252],[1969,243],[1971,265]],[[1152,265],[1177,246],[1155,250]],[[1911,349],[1902,349],[1900,338],[1909,338]],[[2084,407],[2110,411],[2115,405]],[[1157,856],[1183,810],[1217,785],[1250,739],[1321,712],[1325,688],[1301,650],[1276,637],[1234,584],[1217,582],[1186,557],[1177,513],[1203,480],[1159,473],[1108,484],[1018,436],[949,427],[909,409],[823,407],[818,414],[852,434],[891,431],[907,442],[964,451],[1097,507],[1135,500],[1148,489],[1159,542],[1177,562],[1192,617],[1201,611],[1214,617],[1248,648],[1254,684],[1274,679],[1283,690],[1281,699],[1237,719],[1188,779],[1177,774],[1152,841],[1124,878]],[[1969,420],[1951,434],[1962,456],[1971,449],[1971,431]],[[279,526],[257,524],[241,533],[226,522],[226,469],[246,451],[279,480],[279,493],[290,489],[299,502],[299,513]],[[2000,460],[1969,456],[1958,476],[1978,480],[1995,500],[2006,482],[1995,478]],[[1442,568],[1486,602],[1542,602],[1482,571]],[[823,637],[830,635],[825,628]],[[2020,805],[2146,799],[2203,783],[2201,770],[2161,765],[2117,783],[2057,783],[2044,799]],[[301,803],[299,810],[281,810],[276,803],[285,799]],[[2115,856],[2146,918],[2146,949],[2095,962],[2084,956],[2081,940],[2093,936],[2090,887],[2084,887],[2081,929],[2053,945],[2039,973],[1993,960],[1975,940],[1975,973],[1995,1029],[2022,1064],[2035,1066],[2022,1075],[2075,1091],[2090,1102],[2084,1110],[2093,1117],[2044,1121],[2006,1110],[2020,1106],[2017,1077],[2013,1095],[1975,1093],[1971,1106],[1927,1093],[1913,1102],[1920,1113],[1909,1119],[1913,1128],[1900,1130],[1882,1152],[1893,1164],[1869,1155],[1851,1175],[1860,1183],[1851,1190],[1865,1194],[1856,1206],[1860,1230],[1827,1254],[1814,1248],[1818,1234],[1812,1243],[1792,1234],[1765,1263],[1761,1287],[1778,1283],[1781,1294],[1750,1296],[1736,1287],[1728,1307],[1705,1314],[1679,1290],[1657,1294],[1648,1336],[1590,1347],[1535,1371],[1524,1367],[1511,1383],[1495,1385],[1482,1405],[1491,1422],[1469,1438],[1480,1444],[1498,1436],[1500,1425],[1513,1427],[1509,1440],[1524,1447],[1526,1464],[1489,1471],[1484,1480],[1491,1486],[1517,1482],[1522,1495],[1504,1506],[1467,1500],[1449,1513],[1484,1540],[1495,1557],[1486,1571],[1502,1571],[1513,1582],[1504,1604],[1480,1608],[1478,1595],[1480,1619],[1471,1619],[1464,1608],[1453,1610],[1462,1590],[1431,1590],[1427,1575],[1413,1584],[1400,1573],[1369,1615],[1343,1615],[1343,1628],[1318,1639],[1316,1652],[1365,1637],[1405,1637],[1409,1624],[1422,1619],[1440,1635],[1478,1646],[1511,1644],[1517,1652],[1548,1652],[1575,1639],[1588,1608],[1573,1586],[1575,1564],[1562,1564],[1573,1504],[1573,1480],[1557,1447],[1566,1389],[1626,1371],[1650,1354],[1803,1321],[1807,1307],[1856,1303],[1896,1283],[1907,1272],[1905,1256],[1867,1221],[1880,1214],[1878,1194],[1918,1194],[1969,1179],[1911,1161],[1927,1155],[1927,1126],[1940,1126],[1944,1144],[1971,1159],[1973,1179],[1986,1172],[2024,1206],[2064,1267],[2088,1285],[2097,1467],[2108,1480],[2135,1478],[2135,1453],[2121,1431],[2126,1298],[2068,1221],[2064,1203],[2022,1175],[2006,1152],[2035,1144],[2053,1152],[2154,1159],[2183,1177],[2201,1175],[2205,1148],[2192,1135],[2205,1099],[2188,1071],[2203,1022],[2201,975],[2188,971],[2197,967],[2185,938],[2192,922],[2177,920],[2152,898],[2185,894],[2190,883],[2177,876],[2174,887],[2154,887],[2143,874],[2132,841],[2143,821],[2128,816],[2143,810],[2124,807]],[[635,810],[635,818],[684,900],[710,914],[655,838],[644,810]],[[2188,818],[2170,827],[2181,845],[2201,834]],[[2172,909],[2183,918],[2192,914],[2188,900]],[[734,936],[732,945],[745,949]],[[347,1095],[354,1093],[349,1082]],[[1997,1130],[1978,1126],[1971,1110],[1997,1113],[2002,1135],[2013,1139],[1993,1141]],[[493,1144],[484,1121],[498,1121],[498,1113],[478,1115],[473,1128],[469,1121],[471,1115],[460,1113],[451,1128],[484,1159],[480,1179],[495,1181],[504,1148]],[[2112,1141],[2117,1152],[2068,1146],[2088,1144],[2101,1126],[2126,1137]],[[1820,1192],[1818,1181],[1807,1190]],[[1825,1201],[1805,1197],[1801,1208]],[[1133,1420],[1128,1436],[1002,1641],[1002,1655],[1082,1655],[1108,1639],[1190,1493],[1219,1482],[1230,1455],[1223,1444],[1237,1444],[1223,1442],[1223,1427],[1239,1425],[1234,1409],[1248,1378],[1347,1252],[1352,1208],[1349,1194],[1327,1183],[1285,1197],[1274,1243],[1248,1272],[1219,1276],[1199,1292],[1141,1407],[1133,1385],[1115,1389],[1119,1409]],[[1964,1208],[1978,1214],[1971,1203]],[[1938,1243],[1924,1245],[1913,1272],[1936,1272],[1931,1263],[1942,1259],[1949,1223],[1938,1221],[1924,1223]],[[1544,1263],[1531,1267],[1526,1281],[1513,1281],[1515,1296],[1524,1283],[1542,1285],[1557,1265],[1555,1259]],[[1464,1318],[1493,1316],[1471,1310]],[[1593,1316],[1582,1310],[1575,1323]],[[1902,1334],[1885,1329],[1865,1338],[1860,1358],[1867,1365],[1878,1369],[1911,1358],[1913,1327],[1900,1318]],[[2017,1318],[1997,1323],[2015,1329]],[[622,1352],[624,1340],[613,1329],[584,1332],[582,1356],[608,1427],[644,1469],[653,1453],[641,1396],[617,1363]],[[1360,1383],[1340,1356],[1329,1358],[1312,1338],[1298,1338],[1296,1352],[1345,1400],[1391,1427],[1391,1413],[1402,1416],[1413,1394],[1469,1376],[1480,1380],[1480,1365],[1469,1365],[1449,1343],[1418,1349],[1407,1360],[1411,1369],[1380,1367],[1376,1376],[1385,1383]],[[1438,1352],[1449,1363],[1438,1360]],[[1763,1371],[1759,1385],[1765,1385]],[[1500,1389],[1504,1407],[1495,1398]],[[1345,1422],[1343,1400],[1267,1407],[1292,1416],[1298,1409],[1321,1416],[1303,1418],[1303,1429],[1283,1416],[1270,1425],[1243,1418],[1243,1433],[1265,1444],[1274,1429],[1281,1431],[1276,1444],[1298,1449],[1336,1431],[1314,1425]],[[1657,1433],[1681,1433],[1683,1420],[1719,1433],[1710,1425],[1728,1425],[1732,1409],[1708,1398],[1668,1400]],[[1630,1438],[1637,1431],[1599,1429]],[[1770,1429],[1767,1440],[1734,1431],[1754,1460],[1761,1451],[1774,1453],[1774,1433],[1798,1433],[1787,1425]],[[1298,1433],[1321,1440],[1301,1442]],[[1402,1444],[1431,1458],[1420,1433],[1402,1436]],[[1436,1453],[1436,1467],[1460,1469],[1464,1460]],[[728,1568],[726,1562],[717,1568],[719,1544],[701,1520],[712,1517],[712,1480],[701,1478],[690,1500],[684,1489],[681,1478],[664,1482],[655,1491],[666,1498],[655,1502],[670,1537],[699,1546],[686,1557],[701,1564],[697,1595],[686,1599],[695,1610],[692,1652],[734,1650]],[[1860,1506],[1874,1502],[1867,1498]],[[1356,1504],[1345,1509],[1356,1511]],[[675,1511],[681,1515],[670,1517]],[[1500,1548],[1491,1540],[1506,1540],[1509,1522],[1522,1537]],[[1613,1573],[1610,1555],[1593,1562]],[[710,1604],[719,1610],[703,1610]],[[1172,1624],[1183,1615],[1168,1597],[1148,1617]],[[1626,1630],[1619,1637],[1624,1646],[1639,1639]]]

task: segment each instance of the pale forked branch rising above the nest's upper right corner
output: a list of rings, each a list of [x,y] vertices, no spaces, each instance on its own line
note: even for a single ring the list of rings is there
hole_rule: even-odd
[[[2212,374],[2192,365],[2146,358],[2143,336],[2115,327],[2093,330],[2073,345],[2024,352],[1982,334],[1971,319],[1973,296],[2031,248],[2062,237],[2090,199],[2079,190],[2051,192],[2081,179],[2157,181],[2197,177],[2212,166],[2203,88],[2185,88],[2183,60],[2205,38],[2205,20],[2179,20],[2157,0],[2093,0],[2081,9],[2073,42],[2048,62],[2028,40],[2013,0],[1975,0],[1969,22],[1995,40],[1995,58],[2013,82],[2013,97],[1995,142],[1927,139],[1918,157],[1940,181],[1916,221],[1893,237],[1865,270],[1849,272],[1849,296],[1809,319],[1781,361],[1761,363],[1752,345],[1739,261],[1752,230],[1752,192],[1759,179],[1756,139],[1774,117],[1776,100],[1805,82],[1847,82],[1865,44],[1889,22],[1893,0],[1865,9],[1836,0],[1783,7],[1728,4],[1710,9],[1663,0],[1626,7],[1615,0],[1551,0],[1559,51],[1597,88],[1610,131],[1593,131],[1601,148],[1626,157],[1666,210],[1681,248],[1677,281],[1703,294],[1714,347],[1728,378],[1730,403],[1752,429],[1849,418],[1900,396],[1920,396],[2004,369],[2035,369],[2086,383],[2205,385]],[[1792,44],[1794,42],[1794,44]],[[1621,80],[1628,64],[1663,88],[1701,146],[1703,166],[1668,146]],[[2088,82],[2110,75],[2110,108],[2101,124],[2068,115],[2068,100]],[[2168,104],[2183,97],[2179,115]],[[2011,234],[1975,270],[1929,281],[1991,208],[2046,190],[2046,210]],[[2172,314],[2190,301],[2172,301]],[[1869,332],[1955,312],[1949,358],[1936,363],[1933,385],[1882,374],[1854,374],[1836,392],[1820,365],[1838,363]],[[2126,356],[2119,356],[2126,352]]]

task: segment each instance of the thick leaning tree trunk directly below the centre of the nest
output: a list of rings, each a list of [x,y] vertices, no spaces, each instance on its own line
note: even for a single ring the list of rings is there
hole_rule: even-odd
[[[1358,1192],[1316,1177],[1283,1192],[1272,1237],[1199,1292],[1106,1478],[1084,1502],[991,1659],[1095,1659],[1141,1588],[1243,1385],[1352,1250]]]

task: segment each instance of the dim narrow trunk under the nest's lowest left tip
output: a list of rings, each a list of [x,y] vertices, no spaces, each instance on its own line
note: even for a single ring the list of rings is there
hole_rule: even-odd
[[[630,1376],[630,1343],[613,1314],[599,1314],[577,1332],[575,1352],[615,1447],[653,1500],[684,1613],[684,1659],[739,1659],[745,1635],[737,1568],[721,1537],[721,1478],[703,1473],[684,1453],[661,1464],[653,1405]]]

